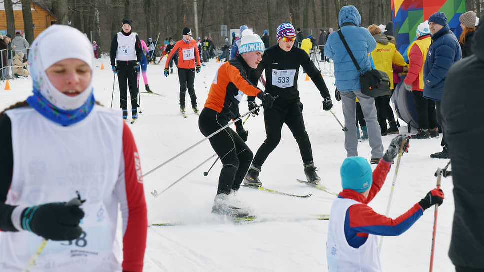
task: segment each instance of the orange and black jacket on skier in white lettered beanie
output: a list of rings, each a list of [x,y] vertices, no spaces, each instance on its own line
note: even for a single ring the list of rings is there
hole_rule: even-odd
[[[250,67],[240,55],[223,63],[218,68],[210,86],[205,107],[232,119],[238,118],[240,116],[238,104],[242,99],[242,93],[257,96],[261,92],[248,80],[249,69]]]

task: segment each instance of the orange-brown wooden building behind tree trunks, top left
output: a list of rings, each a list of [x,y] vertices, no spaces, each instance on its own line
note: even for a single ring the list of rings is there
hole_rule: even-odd
[[[33,19],[33,36],[36,38],[40,32],[54,24],[55,21],[57,21],[57,17],[35,1],[32,1],[31,10]],[[13,16],[15,17],[15,32],[21,32],[23,34],[25,27],[23,26],[21,2],[13,4]],[[7,34],[6,13],[3,1],[0,3],[0,32]],[[9,34],[12,35],[12,37],[15,37],[15,33]]]

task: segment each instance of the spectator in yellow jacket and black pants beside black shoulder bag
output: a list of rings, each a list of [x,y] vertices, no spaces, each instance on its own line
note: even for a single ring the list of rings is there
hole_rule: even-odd
[[[371,56],[373,57],[375,69],[386,72],[390,78],[390,89],[393,90],[393,67],[391,64],[393,63],[404,67],[406,66],[406,62],[400,52],[396,50],[395,45],[389,42],[388,38],[382,34],[380,29],[381,27],[378,27],[376,24],[368,27],[369,32],[376,40],[376,49],[371,52]],[[398,134],[400,132],[395,122],[393,110],[390,107],[390,97],[384,95],[375,98],[376,113],[382,136]],[[386,120],[390,124],[389,129]]]

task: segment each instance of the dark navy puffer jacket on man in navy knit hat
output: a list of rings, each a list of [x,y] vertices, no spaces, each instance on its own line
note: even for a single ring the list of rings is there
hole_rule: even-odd
[[[432,36],[432,44],[428,48],[425,66],[423,67],[423,97],[441,101],[443,82],[448,69],[462,58],[460,44],[454,33],[445,25]]]

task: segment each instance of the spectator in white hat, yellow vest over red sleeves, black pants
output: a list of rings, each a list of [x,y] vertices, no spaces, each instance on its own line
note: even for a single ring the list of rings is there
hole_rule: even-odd
[[[416,31],[417,40],[408,46],[408,61],[410,66],[405,77],[405,88],[411,91],[415,100],[418,115],[418,133],[412,139],[428,139],[438,137],[435,102],[423,97],[423,64],[427,58],[428,47],[432,43],[428,21],[420,23]]]

